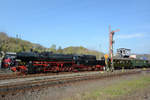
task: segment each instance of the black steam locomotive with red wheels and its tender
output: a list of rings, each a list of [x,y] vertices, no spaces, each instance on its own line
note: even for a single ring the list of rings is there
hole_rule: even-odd
[[[19,52],[15,57],[6,56],[3,67],[23,73],[103,70],[104,60],[94,55],[54,54],[51,52]]]

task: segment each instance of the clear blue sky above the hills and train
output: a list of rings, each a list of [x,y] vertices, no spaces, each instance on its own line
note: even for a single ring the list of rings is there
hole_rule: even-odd
[[[150,0],[0,0],[0,31],[45,47],[84,46],[108,52],[108,26],[117,48],[150,53]]]

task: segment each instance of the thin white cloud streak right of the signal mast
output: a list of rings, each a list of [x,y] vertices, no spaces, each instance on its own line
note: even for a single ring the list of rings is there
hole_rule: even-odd
[[[132,39],[132,38],[140,38],[144,37],[144,33],[135,33],[135,34],[120,34],[116,36],[116,39]]]

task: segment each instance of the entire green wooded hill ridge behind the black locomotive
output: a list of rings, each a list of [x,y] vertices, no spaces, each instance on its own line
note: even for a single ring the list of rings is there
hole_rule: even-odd
[[[0,32],[0,51],[4,52],[20,52],[20,51],[52,51],[54,53],[64,53],[64,54],[90,54],[96,55],[97,58],[101,58],[104,54],[95,50],[89,50],[82,46],[79,47],[67,47],[62,49],[60,46],[56,49],[56,45],[52,45],[50,48],[45,48],[40,44],[31,43],[19,38],[9,37],[6,33]]]

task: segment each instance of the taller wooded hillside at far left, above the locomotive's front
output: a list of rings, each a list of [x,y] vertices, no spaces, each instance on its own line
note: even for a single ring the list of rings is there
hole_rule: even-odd
[[[45,49],[39,44],[34,44],[19,38],[9,37],[6,33],[0,32],[0,51],[20,52],[29,51],[31,48],[34,48],[37,51]]]

